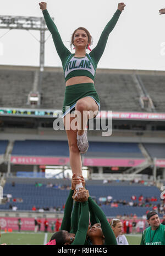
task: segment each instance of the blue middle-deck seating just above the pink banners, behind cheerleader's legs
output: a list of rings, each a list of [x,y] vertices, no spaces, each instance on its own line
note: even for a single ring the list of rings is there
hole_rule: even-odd
[[[63,140],[16,140],[12,155],[69,156],[68,142]],[[144,158],[138,143],[90,142],[87,156]]]

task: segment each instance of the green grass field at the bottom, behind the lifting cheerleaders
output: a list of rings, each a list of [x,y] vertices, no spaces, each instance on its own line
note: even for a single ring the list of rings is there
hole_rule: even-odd
[[[52,236],[52,233],[34,233],[34,232],[12,232],[3,233],[0,243],[8,245],[43,245],[47,243]],[[130,245],[140,244],[141,235],[126,236]]]

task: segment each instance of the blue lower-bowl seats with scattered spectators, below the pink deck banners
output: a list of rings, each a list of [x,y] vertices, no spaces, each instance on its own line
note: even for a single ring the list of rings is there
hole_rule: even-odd
[[[40,207],[61,207],[65,204],[69,191],[64,189],[61,190],[55,187],[47,187],[46,184],[42,186],[35,186],[35,179],[33,179],[33,184],[29,184],[26,180],[20,178],[20,181],[23,183],[16,183],[15,186],[12,186],[12,183],[7,182],[4,186],[4,195],[12,194],[13,198],[22,198],[23,202],[7,202],[5,205],[0,205],[0,210],[9,210],[9,205],[15,205],[18,207],[18,210],[30,211],[32,206]],[[32,179],[31,179],[32,180]],[[42,179],[40,179],[42,181]],[[47,182],[49,180],[46,180]],[[70,182],[70,181],[69,181]],[[86,182],[87,184],[87,182]],[[61,184],[62,185],[62,184]],[[136,195],[137,199],[135,202],[138,202],[139,196],[142,194],[145,197],[156,196],[158,201],[154,204],[161,203],[160,201],[160,190],[155,186],[134,186],[134,185],[125,185],[120,186],[116,185],[86,185],[87,189],[90,191],[90,195],[95,197],[99,203],[100,197],[107,197],[111,195],[113,201],[116,200],[125,200],[127,202],[131,201],[131,196]],[[116,216],[116,215],[130,215],[131,213],[136,213],[137,216],[142,216],[146,213],[147,210],[152,210],[150,207],[133,207],[133,206],[124,206],[118,204],[118,207],[111,207],[111,205],[102,205],[102,210],[105,212],[106,216]]]

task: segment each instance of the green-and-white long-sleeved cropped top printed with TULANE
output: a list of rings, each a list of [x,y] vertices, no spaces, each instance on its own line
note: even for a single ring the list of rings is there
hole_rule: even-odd
[[[121,12],[117,9],[112,19],[109,20],[105,29],[103,29],[97,45],[90,52],[90,54],[86,54],[84,58],[75,58],[74,54],[72,54],[63,44],[61,35],[59,34],[58,29],[50,17],[47,9],[43,10],[43,16],[45,18],[47,28],[52,34],[54,45],[56,47],[59,58],[62,61],[65,81],[75,76],[87,76],[92,80],[95,79],[98,61],[100,60],[103,51],[105,50],[109,33],[111,33],[115,27],[120,14]]]

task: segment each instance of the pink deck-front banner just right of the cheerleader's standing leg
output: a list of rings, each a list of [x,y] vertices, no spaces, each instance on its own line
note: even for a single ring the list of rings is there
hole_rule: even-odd
[[[111,159],[111,158],[84,158],[84,166],[120,166],[133,167],[145,162],[145,159]]]

